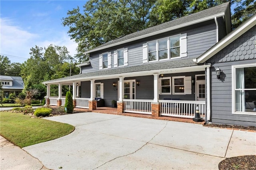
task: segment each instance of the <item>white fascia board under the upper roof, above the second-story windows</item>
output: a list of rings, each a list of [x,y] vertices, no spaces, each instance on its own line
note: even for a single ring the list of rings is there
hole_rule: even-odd
[[[122,42],[117,42],[117,43],[113,43],[113,44],[110,44],[110,45],[106,45],[104,47],[92,49],[92,50],[84,52],[84,54],[87,55],[88,53],[91,53],[91,52],[99,51],[99,50],[106,49],[106,48],[109,48],[109,47],[114,47],[116,45],[120,45],[120,44],[124,44],[124,43],[128,43],[128,42],[133,42],[135,40],[140,40],[142,38],[147,38],[147,37],[150,37],[150,36],[155,36],[157,34],[162,34],[164,32],[176,30],[176,29],[183,28],[183,27],[186,27],[186,26],[191,26],[193,24],[198,24],[200,22],[212,20],[215,17],[218,18],[218,17],[221,17],[221,16],[225,16],[225,12],[222,12],[222,13],[219,13],[219,14],[216,14],[216,15],[212,15],[212,16],[208,16],[208,17],[205,17],[205,18],[201,18],[201,19],[198,19],[198,20],[194,20],[194,21],[191,21],[191,22],[187,22],[187,23],[184,23],[184,24],[180,24],[178,26],[174,26],[174,27],[166,28],[166,29],[159,30],[159,31],[156,31],[156,32],[152,32],[152,33],[149,33],[149,34],[145,34],[145,35],[142,35],[142,36],[138,36],[138,37],[135,37],[135,38],[131,38],[129,40],[124,40]]]

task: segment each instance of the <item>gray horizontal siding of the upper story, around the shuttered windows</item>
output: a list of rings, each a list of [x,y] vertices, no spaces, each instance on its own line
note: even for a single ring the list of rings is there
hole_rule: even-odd
[[[140,41],[118,45],[109,49],[98,51],[90,54],[90,67],[82,66],[82,73],[99,71],[99,55],[101,53],[111,52],[111,69],[114,68],[114,51],[120,48],[128,48],[128,66],[136,66],[143,64],[142,45],[143,43],[174,36],[177,34],[187,33],[187,53],[188,57],[194,58],[200,56],[216,43],[216,24],[214,20],[204,24],[190,26],[190,28],[182,28],[171,32],[166,32],[157,36],[144,38]],[[187,57],[185,57],[187,58]],[[182,58],[178,58],[182,59]],[[162,61],[156,61],[162,62]],[[164,61],[163,61],[164,62]]]

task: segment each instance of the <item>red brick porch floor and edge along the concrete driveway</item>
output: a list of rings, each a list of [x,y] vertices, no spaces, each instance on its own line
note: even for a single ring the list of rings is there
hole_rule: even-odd
[[[144,115],[144,114],[138,114],[138,113],[117,113],[117,108],[111,108],[111,107],[97,107],[96,110],[93,110],[93,111],[89,111],[88,109],[81,109],[81,108],[75,108],[74,110],[83,111],[83,112],[95,112],[95,113],[105,113],[105,114],[112,114],[112,115],[141,117],[141,118],[148,118],[148,119],[158,119],[158,120],[164,120],[164,121],[195,123],[200,125],[204,125],[205,123],[204,121],[194,122],[192,119],[186,119],[186,118],[177,118],[177,117],[168,117],[168,116],[153,117],[152,115]]]

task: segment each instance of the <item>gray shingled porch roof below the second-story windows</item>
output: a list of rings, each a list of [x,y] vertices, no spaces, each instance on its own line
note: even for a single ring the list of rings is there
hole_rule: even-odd
[[[182,61],[182,62],[181,62]],[[151,71],[151,70],[162,70],[162,69],[173,69],[180,67],[196,66],[197,64],[193,62],[193,59],[182,59],[182,60],[171,60],[164,62],[148,63],[144,65],[137,65],[132,67],[121,67],[116,69],[106,69],[101,71],[95,71],[92,73],[82,73],[78,75],[72,75],[70,77],[64,77],[60,79],[45,81],[43,83],[54,83],[58,81],[65,81],[70,79],[88,78],[94,76],[104,76],[104,75],[115,75],[120,73],[132,73],[138,71]],[[103,79],[103,77],[102,77]]]

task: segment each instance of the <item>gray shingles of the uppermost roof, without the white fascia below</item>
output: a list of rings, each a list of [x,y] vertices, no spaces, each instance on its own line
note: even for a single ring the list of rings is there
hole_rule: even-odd
[[[92,49],[90,51],[95,51],[96,49],[100,49],[102,47],[106,47],[106,46],[109,46],[109,45],[112,45],[112,44],[115,44],[115,43],[118,43],[118,45],[120,45],[123,42],[125,42],[127,40],[130,40],[130,39],[133,39],[133,38],[139,38],[140,36],[145,36],[145,35],[150,34],[150,33],[158,32],[158,31],[165,30],[165,29],[170,29],[170,28],[173,28],[173,27],[176,27],[176,26],[180,26],[182,24],[186,24],[186,23],[189,23],[189,22],[194,22],[196,20],[202,20],[202,18],[208,18],[210,16],[216,16],[218,14],[223,14],[224,15],[224,12],[226,11],[226,9],[228,7],[229,7],[229,2],[226,2],[226,3],[221,4],[219,6],[209,8],[207,10],[203,10],[203,11],[200,11],[200,12],[197,12],[197,13],[194,13],[194,14],[190,14],[188,16],[184,16],[182,18],[178,18],[176,20],[172,20],[172,21],[169,21],[169,22],[165,22],[163,24],[159,24],[157,26],[147,28],[145,30],[134,32],[134,33],[128,34],[126,36],[122,36],[122,37],[117,38],[115,40],[112,40],[110,42],[104,43],[104,44],[102,44],[98,47],[95,47],[94,49]],[[209,18],[209,19],[212,19],[212,18]],[[166,31],[168,31],[168,30],[166,30]],[[90,53],[90,51],[87,51],[86,53]]]

